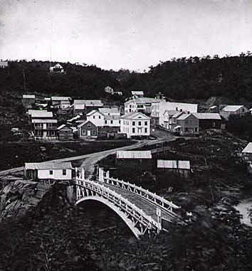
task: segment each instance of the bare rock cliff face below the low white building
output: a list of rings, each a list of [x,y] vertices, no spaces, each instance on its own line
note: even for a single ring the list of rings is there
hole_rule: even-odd
[[[5,218],[23,218],[41,207],[42,199],[51,195],[51,185],[4,176],[0,179],[0,222]]]

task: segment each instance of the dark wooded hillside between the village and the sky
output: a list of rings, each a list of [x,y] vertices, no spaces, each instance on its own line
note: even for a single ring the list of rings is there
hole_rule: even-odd
[[[52,63],[55,64],[55,63]],[[110,85],[126,97],[131,90],[145,90],[153,97],[163,92],[176,100],[226,97],[233,102],[252,102],[252,55],[226,55],[219,58],[174,58],[149,67],[148,72],[102,70],[95,65],[61,63],[64,74],[49,73],[49,62],[13,61],[9,69],[0,70],[0,91],[40,92],[73,97],[105,97],[104,87]],[[24,75],[23,75],[24,74]],[[25,86],[23,84],[25,77]],[[115,98],[115,97],[114,97]],[[118,97],[117,97],[118,98]]]

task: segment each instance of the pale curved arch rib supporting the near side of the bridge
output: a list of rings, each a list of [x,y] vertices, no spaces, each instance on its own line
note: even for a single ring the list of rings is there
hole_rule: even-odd
[[[112,204],[110,201],[108,201],[105,198],[102,198],[100,196],[85,196],[84,198],[80,198],[78,201],[76,201],[75,205],[80,204],[83,201],[98,201],[100,203],[105,204],[107,207],[109,207],[110,209],[112,209],[112,211],[114,211],[115,213],[117,213],[118,216],[120,216],[120,218],[122,218],[122,220],[125,222],[125,224],[130,228],[130,230],[132,231],[132,233],[134,233],[134,235],[137,238],[140,238],[140,235],[142,235],[142,232],[136,227],[136,223],[134,223],[129,216],[127,216],[127,213],[123,212],[120,210],[120,208],[117,208],[117,206],[115,206],[114,204]]]

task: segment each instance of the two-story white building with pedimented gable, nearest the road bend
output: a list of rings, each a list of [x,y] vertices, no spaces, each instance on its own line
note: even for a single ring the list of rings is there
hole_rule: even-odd
[[[131,112],[120,119],[120,133],[131,137],[149,137],[150,117],[141,112]]]

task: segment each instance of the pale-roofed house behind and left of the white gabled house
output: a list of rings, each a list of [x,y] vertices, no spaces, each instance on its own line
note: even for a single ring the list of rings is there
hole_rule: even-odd
[[[99,110],[101,107],[103,107],[101,100],[74,100],[73,114],[83,113],[86,115],[92,110]]]

